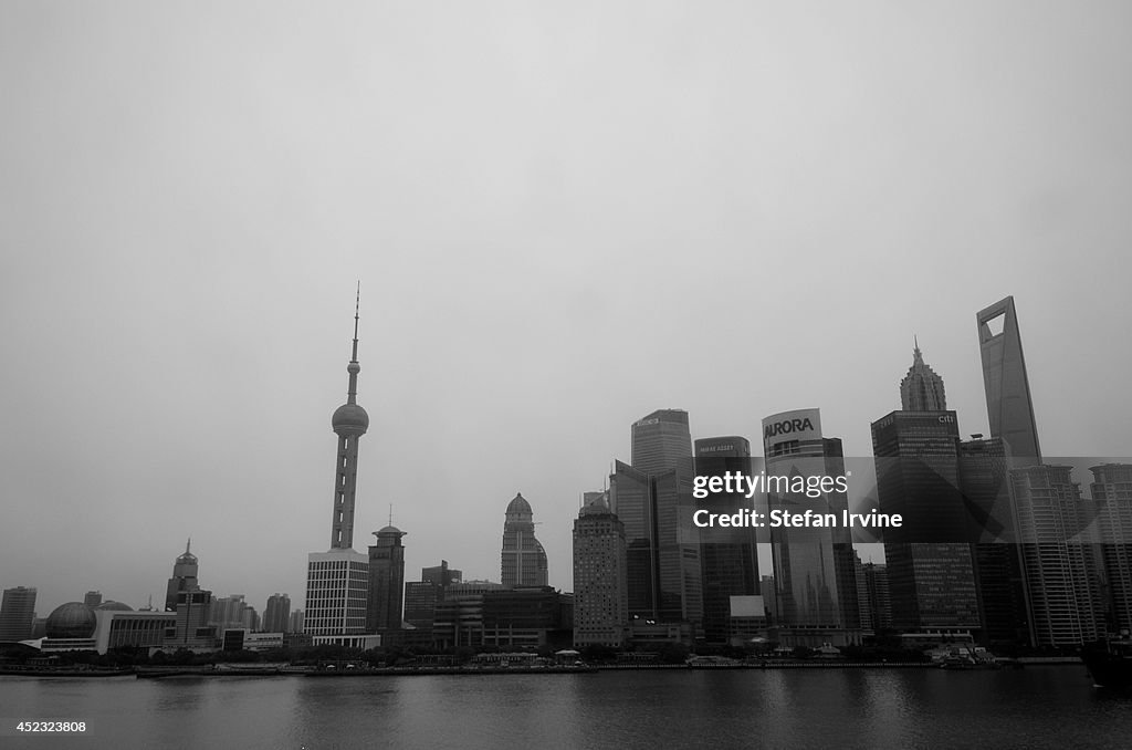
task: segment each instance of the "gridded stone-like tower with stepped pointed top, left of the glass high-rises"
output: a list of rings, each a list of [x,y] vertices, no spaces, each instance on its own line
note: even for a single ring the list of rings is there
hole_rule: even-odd
[[[574,521],[574,646],[620,648],[628,624],[625,525],[607,493],[586,493]]]

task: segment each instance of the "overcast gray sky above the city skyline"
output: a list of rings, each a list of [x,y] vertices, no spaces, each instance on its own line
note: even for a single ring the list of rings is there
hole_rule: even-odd
[[[572,588],[629,425],[820,407],[918,334],[986,432],[1013,295],[1048,455],[1129,455],[1126,2],[0,3],[0,586],[302,606],[361,280],[354,546]],[[1086,480],[1087,477],[1078,477]]]

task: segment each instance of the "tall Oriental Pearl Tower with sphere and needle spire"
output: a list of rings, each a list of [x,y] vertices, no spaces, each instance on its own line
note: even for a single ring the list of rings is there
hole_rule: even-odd
[[[346,372],[350,385],[346,402],[334,410],[331,426],[338,436],[338,453],[334,469],[334,517],[331,522],[331,549],[353,548],[353,511],[358,485],[358,438],[369,429],[369,415],[358,404],[358,310],[361,304],[361,287],[354,299],[353,353]]]

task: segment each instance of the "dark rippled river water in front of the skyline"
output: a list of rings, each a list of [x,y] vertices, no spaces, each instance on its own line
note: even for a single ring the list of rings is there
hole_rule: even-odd
[[[595,674],[0,676],[0,748],[1129,748],[1083,666]],[[22,719],[85,722],[22,734]]]

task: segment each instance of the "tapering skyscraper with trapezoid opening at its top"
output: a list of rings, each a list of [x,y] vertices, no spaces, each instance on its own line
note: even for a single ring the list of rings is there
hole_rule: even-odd
[[[1006,442],[1013,466],[1041,463],[1014,298],[1006,297],[979,310],[976,321],[990,435]]]

